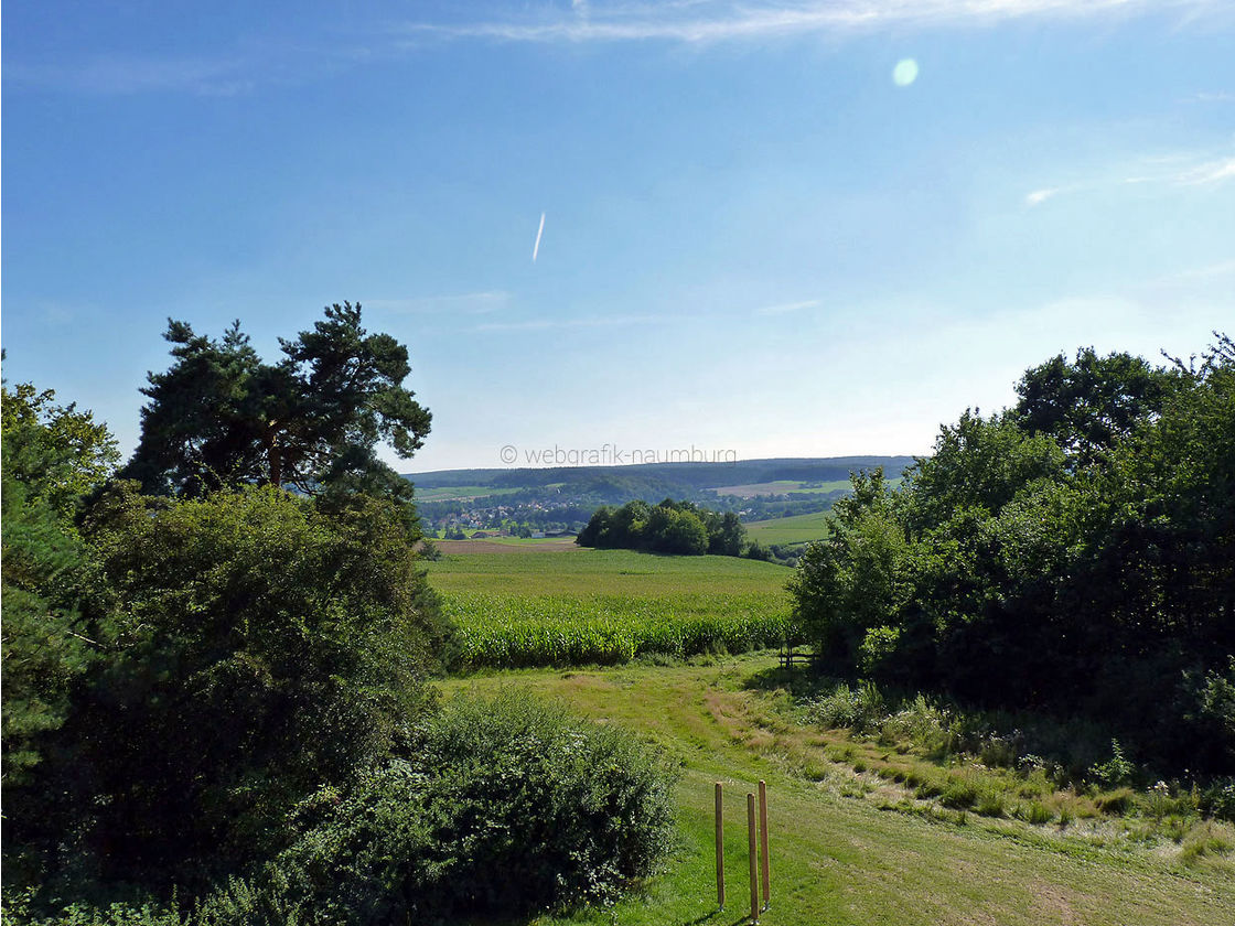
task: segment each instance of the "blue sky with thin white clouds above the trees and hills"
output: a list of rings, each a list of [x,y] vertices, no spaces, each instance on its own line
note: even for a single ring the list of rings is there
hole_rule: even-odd
[[[404,472],[924,453],[1060,351],[1235,330],[1225,0],[2,16],[5,377],[126,452],[168,316],[273,356],[361,301]]]

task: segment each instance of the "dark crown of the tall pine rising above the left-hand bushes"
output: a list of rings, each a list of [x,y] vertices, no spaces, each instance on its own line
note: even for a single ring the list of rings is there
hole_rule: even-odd
[[[359,305],[325,315],[295,341],[280,340],[274,364],[238,321],[221,340],[169,321],[175,361],[142,390],[149,403],[125,474],[152,494],[273,484],[410,501],[411,486],[375,454],[388,441],[408,458],[429,433],[430,414],[401,385],[408,349],[366,332]]]

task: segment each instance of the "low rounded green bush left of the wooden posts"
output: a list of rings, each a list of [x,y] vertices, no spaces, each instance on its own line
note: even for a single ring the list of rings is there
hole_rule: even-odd
[[[305,801],[268,874],[330,924],[610,900],[669,848],[672,783],[618,728],[525,696],[458,698],[409,758]]]

